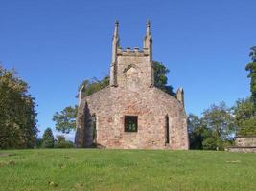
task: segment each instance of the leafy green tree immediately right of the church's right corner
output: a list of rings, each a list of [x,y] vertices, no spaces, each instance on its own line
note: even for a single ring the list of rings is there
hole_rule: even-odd
[[[212,105],[202,117],[189,115],[188,132],[191,149],[223,150],[234,141],[235,118],[224,102]]]

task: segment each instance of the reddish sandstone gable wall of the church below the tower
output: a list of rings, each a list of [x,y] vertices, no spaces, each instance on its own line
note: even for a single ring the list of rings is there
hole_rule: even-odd
[[[91,121],[84,120],[83,115],[85,101],[90,113],[87,117],[95,114],[97,118],[97,143],[106,148],[188,149],[186,115],[182,104],[157,88],[132,91],[111,87],[85,97],[78,117],[81,134],[87,132],[85,137],[78,135],[82,146],[92,143]],[[138,132],[124,131],[126,115],[138,116]],[[170,129],[168,145],[165,143],[166,115],[169,116]]]

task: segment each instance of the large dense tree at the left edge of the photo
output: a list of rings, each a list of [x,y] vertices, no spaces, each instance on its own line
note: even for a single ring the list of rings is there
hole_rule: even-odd
[[[28,84],[0,66],[0,148],[32,148],[36,128],[35,98]]]

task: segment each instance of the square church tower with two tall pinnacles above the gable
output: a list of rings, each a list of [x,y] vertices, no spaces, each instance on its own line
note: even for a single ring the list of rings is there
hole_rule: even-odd
[[[118,34],[119,23],[115,23],[112,39],[110,86],[137,89],[153,86],[152,38],[150,21],[146,25],[143,50],[138,47],[122,49]]]

